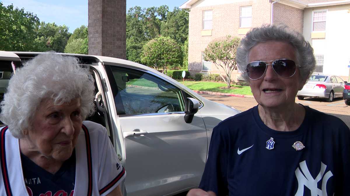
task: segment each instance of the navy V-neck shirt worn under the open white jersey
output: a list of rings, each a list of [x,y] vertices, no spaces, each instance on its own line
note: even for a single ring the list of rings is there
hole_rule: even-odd
[[[21,153],[24,180],[29,196],[73,196],[75,186],[75,150],[55,173],[44,170]]]

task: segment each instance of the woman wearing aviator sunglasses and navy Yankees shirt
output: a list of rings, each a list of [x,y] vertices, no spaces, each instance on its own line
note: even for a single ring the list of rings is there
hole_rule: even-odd
[[[214,128],[200,189],[188,196],[349,195],[349,128],[295,103],[315,67],[310,44],[264,25],[241,40],[236,59],[258,105]]]

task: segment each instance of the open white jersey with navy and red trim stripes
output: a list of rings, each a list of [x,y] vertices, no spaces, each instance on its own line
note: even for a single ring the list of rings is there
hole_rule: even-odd
[[[19,140],[11,135],[7,127],[0,129],[0,176],[2,176],[0,177],[0,195],[28,196],[30,190],[26,187],[22,172]],[[60,192],[58,195],[104,196],[125,178],[125,169],[119,163],[106,128],[97,123],[83,122],[75,146],[75,156],[74,191],[73,193]]]

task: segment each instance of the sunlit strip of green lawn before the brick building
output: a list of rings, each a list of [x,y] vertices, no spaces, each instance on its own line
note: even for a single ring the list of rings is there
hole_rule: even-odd
[[[178,80],[178,82],[184,84],[191,90],[253,95],[250,90],[250,86],[237,85],[234,83],[231,83],[230,89],[224,89],[220,87],[226,87],[227,85],[226,83],[221,82],[185,81],[183,83],[181,80]]]

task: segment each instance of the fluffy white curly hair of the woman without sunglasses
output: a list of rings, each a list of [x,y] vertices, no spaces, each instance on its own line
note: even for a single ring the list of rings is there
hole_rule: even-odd
[[[22,138],[31,126],[34,114],[45,98],[61,105],[79,98],[81,116],[94,112],[94,80],[89,68],[78,65],[78,59],[53,52],[42,53],[16,69],[1,101],[0,119],[12,135]]]

